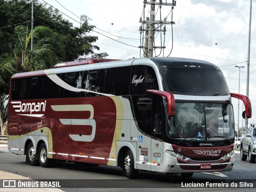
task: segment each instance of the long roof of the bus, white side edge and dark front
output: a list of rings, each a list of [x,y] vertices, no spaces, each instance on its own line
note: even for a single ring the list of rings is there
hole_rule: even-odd
[[[100,62],[101,61],[101,62]],[[102,63],[104,62],[104,63]],[[160,70],[165,67],[176,68],[176,67],[201,67],[218,69],[216,65],[202,61],[198,59],[188,59],[181,57],[147,57],[147,58],[134,58],[127,60],[118,59],[86,59],[81,61],[70,61],[58,63],[53,69],[45,69],[40,71],[30,71],[24,73],[16,73],[12,76],[13,78],[21,77],[34,77],[40,75],[57,74],[57,73],[68,73],[74,71],[94,70],[112,67],[122,67],[131,65],[150,65]]]

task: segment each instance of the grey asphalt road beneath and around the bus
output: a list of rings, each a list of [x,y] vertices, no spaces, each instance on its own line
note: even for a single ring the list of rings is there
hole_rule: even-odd
[[[182,178],[180,174],[139,172],[138,179],[128,180],[122,176],[122,169],[110,166],[82,166],[72,162],[60,164],[55,168],[30,166],[25,162],[25,156],[12,154],[0,148],[0,170],[31,178],[34,180],[60,180],[61,189],[67,192],[84,191],[227,191],[228,188],[191,188],[186,184],[206,182],[228,183],[256,180],[256,163],[250,164],[240,160],[240,154],[235,154],[235,165],[230,172],[194,173],[191,178]],[[4,178],[8,179],[8,178]],[[256,185],[256,183],[254,183]],[[255,187],[233,188],[232,191],[255,191]]]

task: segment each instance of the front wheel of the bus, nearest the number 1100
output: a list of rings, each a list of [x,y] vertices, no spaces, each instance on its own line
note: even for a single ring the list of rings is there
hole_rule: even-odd
[[[134,158],[130,149],[126,150],[124,155],[124,173],[128,179],[136,178],[138,169],[134,168]]]

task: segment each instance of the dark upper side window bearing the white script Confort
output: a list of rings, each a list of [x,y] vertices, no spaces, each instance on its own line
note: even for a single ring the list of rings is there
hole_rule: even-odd
[[[132,66],[130,94],[144,95],[147,89],[159,89],[154,69],[146,65]]]

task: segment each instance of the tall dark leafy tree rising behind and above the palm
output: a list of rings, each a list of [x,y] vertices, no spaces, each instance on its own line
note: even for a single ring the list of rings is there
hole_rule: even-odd
[[[0,55],[10,53],[14,48],[13,24],[26,22],[22,25],[31,28],[31,22],[27,22],[31,20],[31,6],[31,0],[0,0]],[[97,36],[85,36],[94,26],[84,23],[81,28],[75,28],[71,22],[62,18],[58,10],[38,0],[34,0],[34,26],[46,26],[60,35],[65,47],[63,61],[74,61],[79,57],[81,59],[80,55],[83,55],[82,58],[108,56],[106,52],[94,53],[95,50],[100,49],[93,45],[98,40]],[[58,56],[62,57],[62,55]]]

